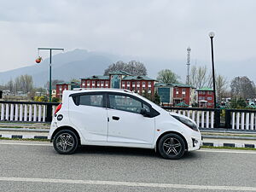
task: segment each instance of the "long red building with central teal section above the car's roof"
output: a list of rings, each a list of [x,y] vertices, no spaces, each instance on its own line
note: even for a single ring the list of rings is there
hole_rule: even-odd
[[[116,71],[108,76],[90,76],[81,79],[81,88],[114,88],[133,90],[137,93],[154,95],[154,79],[147,76],[133,76],[130,73]]]

